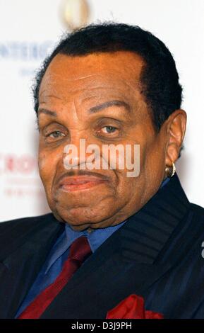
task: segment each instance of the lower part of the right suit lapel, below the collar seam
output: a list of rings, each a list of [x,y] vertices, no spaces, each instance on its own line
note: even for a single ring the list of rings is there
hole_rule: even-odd
[[[131,293],[142,293],[164,272],[152,264],[127,261],[119,238],[112,235],[110,240],[85,261],[41,318],[103,318],[107,310]]]

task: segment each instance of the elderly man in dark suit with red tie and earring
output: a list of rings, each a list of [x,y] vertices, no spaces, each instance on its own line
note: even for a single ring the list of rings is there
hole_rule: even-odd
[[[138,26],[77,30],[44,61],[34,98],[52,213],[0,225],[1,318],[138,318],[136,303],[144,317],[204,317],[204,210],[174,165],[181,90],[167,47]]]

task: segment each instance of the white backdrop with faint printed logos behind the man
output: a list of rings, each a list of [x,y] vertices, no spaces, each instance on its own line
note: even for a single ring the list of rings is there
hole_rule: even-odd
[[[76,1],[76,0],[75,0]],[[35,69],[66,30],[65,0],[0,0],[0,220],[49,211],[37,174],[32,108]],[[204,1],[89,0],[89,22],[133,23],[173,53],[188,114],[185,150],[177,162],[188,199],[204,205]],[[76,15],[76,20],[77,20]]]

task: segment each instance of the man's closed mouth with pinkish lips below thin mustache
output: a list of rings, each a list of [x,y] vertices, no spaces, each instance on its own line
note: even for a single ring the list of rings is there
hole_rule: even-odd
[[[102,179],[98,176],[70,176],[59,183],[59,188],[66,192],[81,191],[105,182],[107,182],[107,179]]]

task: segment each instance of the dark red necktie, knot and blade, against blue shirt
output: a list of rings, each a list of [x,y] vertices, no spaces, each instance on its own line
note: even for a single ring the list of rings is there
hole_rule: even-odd
[[[30,305],[23,310],[18,319],[37,319],[44,310],[48,307],[56,295],[66,285],[68,280],[73,276],[73,273],[80,267],[83,261],[91,254],[88,239],[81,236],[76,239],[70,247],[68,259],[64,262],[63,269],[56,280],[45,288],[42,293],[37,295],[35,300],[32,300]]]

